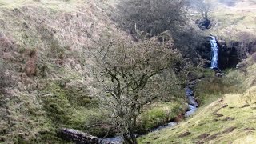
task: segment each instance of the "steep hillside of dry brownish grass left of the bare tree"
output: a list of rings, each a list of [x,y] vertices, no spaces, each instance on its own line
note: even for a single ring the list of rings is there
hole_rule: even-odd
[[[88,48],[119,34],[94,1],[0,1],[0,143],[58,142],[97,112]]]

